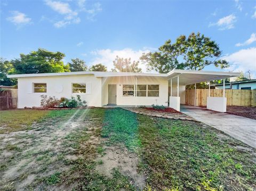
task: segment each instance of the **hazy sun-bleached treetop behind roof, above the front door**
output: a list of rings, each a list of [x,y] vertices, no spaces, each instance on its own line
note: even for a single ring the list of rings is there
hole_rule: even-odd
[[[113,61],[114,69],[111,69],[113,72],[141,72],[139,68],[139,61],[131,61],[131,58],[124,59],[116,56],[116,59]]]

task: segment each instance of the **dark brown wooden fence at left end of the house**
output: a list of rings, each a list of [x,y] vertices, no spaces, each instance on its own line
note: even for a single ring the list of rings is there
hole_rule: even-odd
[[[0,109],[10,110],[17,108],[18,89],[0,89]]]

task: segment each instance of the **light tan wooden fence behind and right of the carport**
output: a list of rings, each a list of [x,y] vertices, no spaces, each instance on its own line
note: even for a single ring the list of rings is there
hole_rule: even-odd
[[[196,106],[206,106],[209,89],[196,89]],[[223,97],[222,89],[210,89],[211,97]],[[256,90],[226,89],[227,105],[256,106]],[[195,105],[195,89],[186,90],[186,104]]]

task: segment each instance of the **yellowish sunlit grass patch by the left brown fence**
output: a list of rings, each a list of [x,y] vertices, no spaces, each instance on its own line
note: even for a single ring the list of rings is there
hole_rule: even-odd
[[[1,111],[0,133],[26,130],[37,120],[44,118],[49,111],[44,110],[10,110]]]

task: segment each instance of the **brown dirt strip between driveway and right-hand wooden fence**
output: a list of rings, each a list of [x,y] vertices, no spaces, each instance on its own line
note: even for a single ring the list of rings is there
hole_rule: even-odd
[[[256,107],[227,106],[227,113],[245,118],[256,119]]]

